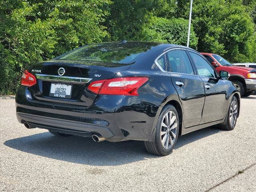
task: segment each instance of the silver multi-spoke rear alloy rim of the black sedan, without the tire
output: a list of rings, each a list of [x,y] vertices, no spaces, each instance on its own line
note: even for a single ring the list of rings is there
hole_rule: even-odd
[[[168,111],[164,115],[161,123],[161,143],[166,149],[170,149],[174,144],[177,135],[177,118],[174,112]]]

